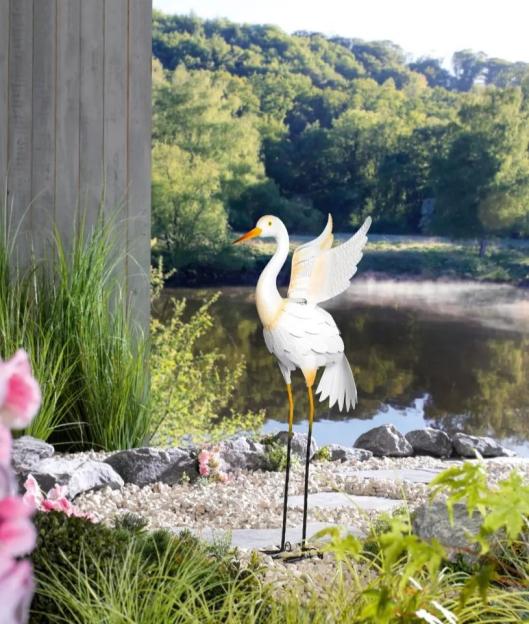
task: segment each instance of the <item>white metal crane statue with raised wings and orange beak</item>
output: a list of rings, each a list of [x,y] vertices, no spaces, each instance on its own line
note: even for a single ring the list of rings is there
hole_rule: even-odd
[[[256,304],[263,324],[263,335],[270,353],[278,360],[279,368],[287,385],[289,402],[287,467],[283,501],[283,527],[279,552],[285,550],[288,482],[292,446],[294,401],[290,375],[299,368],[305,377],[309,397],[309,430],[305,460],[305,488],[303,505],[302,549],[307,539],[307,496],[309,484],[309,461],[314,421],[314,397],[312,386],[318,368],[325,367],[316,393],[320,401],[329,399],[329,407],[338,403],[340,411],[354,408],[357,392],[353,373],[345,357],[344,343],[332,316],[318,306],[347,289],[349,280],[356,273],[367,242],[371,225],[368,217],[362,227],[345,243],[332,247],[332,218],[318,238],[300,245],[292,257],[292,269],[288,295],[285,299],[277,290],[277,276],[289,252],[288,232],[274,216],[261,217],[257,225],[238,238],[235,243],[254,238],[273,238],[277,243],[274,255],[264,268],[257,282]]]

